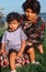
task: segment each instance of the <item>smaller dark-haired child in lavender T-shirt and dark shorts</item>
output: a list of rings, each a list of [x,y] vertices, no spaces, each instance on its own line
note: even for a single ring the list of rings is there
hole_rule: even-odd
[[[8,53],[11,72],[16,72],[15,59],[23,54],[26,44],[26,35],[20,27],[21,17],[18,12],[9,13],[7,16],[7,22],[8,29],[1,41],[1,52]]]

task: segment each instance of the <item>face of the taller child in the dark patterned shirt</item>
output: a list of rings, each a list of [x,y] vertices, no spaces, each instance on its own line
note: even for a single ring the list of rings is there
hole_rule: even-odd
[[[25,16],[28,21],[34,21],[35,19],[37,19],[37,14],[34,13],[32,9],[26,9]]]

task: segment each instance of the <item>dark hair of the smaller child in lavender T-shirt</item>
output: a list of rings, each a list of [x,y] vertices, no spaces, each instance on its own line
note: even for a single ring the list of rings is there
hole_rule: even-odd
[[[21,22],[21,16],[18,12],[10,12],[7,16],[7,22],[11,22],[13,20],[16,20],[18,22]]]

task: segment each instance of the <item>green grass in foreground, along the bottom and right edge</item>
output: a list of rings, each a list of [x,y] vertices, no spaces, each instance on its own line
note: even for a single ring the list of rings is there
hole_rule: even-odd
[[[41,54],[36,51],[36,60],[41,62],[41,64],[28,64],[24,65],[23,68],[18,68],[18,72],[46,72],[46,29],[45,29],[45,39],[44,39],[44,54]],[[1,72],[10,72],[10,68],[1,68]]]

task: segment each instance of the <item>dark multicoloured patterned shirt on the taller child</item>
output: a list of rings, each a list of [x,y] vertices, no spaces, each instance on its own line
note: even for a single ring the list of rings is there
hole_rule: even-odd
[[[22,23],[22,28],[27,35],[27,41],[32,43],[43,42],[45,23],[43,22],[42,18],[38,18],[34,23],[24,21]]]

